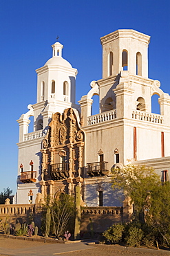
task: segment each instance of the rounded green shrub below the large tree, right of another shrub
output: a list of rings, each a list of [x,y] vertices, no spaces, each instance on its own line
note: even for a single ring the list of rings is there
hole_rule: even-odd
[[[143,231],[141,228],[138,228],[134,225],[127,226],[127,230],[125,232],[125,243],[127,246],[140,246],[142,244]]]

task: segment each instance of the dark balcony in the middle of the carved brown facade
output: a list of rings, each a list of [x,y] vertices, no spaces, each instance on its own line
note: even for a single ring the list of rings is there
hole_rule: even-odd
[[[54,180],[69,178],[69,164],[68,163],[55,163],[51,165],[51,176]]]

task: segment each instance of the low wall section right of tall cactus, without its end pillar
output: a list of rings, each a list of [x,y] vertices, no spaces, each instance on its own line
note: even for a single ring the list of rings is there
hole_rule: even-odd
[[[81,209],[81,232],[103,232],[123,222],[123,207],[85,207]]]

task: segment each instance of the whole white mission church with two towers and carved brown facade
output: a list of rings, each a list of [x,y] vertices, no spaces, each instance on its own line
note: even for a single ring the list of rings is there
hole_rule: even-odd
[[[75,102],[77,69],[52,45],[52,58],[36,69],[37,99],[19,123],[17,204],[39,203],[47,194],[76,196],[81,205],[121,206],[111,189],[111,167],[153,167],[166,181],[170,171],[170,96],[148,78],[148,35],[116,30],[101,37],[103,78]],[[160,114],[151,113],[159,95]],[[92,116],[93,95],[98,114]],[[30,116],[34,131],[28,133]]]

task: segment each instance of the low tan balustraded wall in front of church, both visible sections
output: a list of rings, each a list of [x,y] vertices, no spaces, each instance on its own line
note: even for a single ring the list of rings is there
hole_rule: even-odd
[[[128,222],[132,206],[129,206],[129,200],[123,202],[123,207],[83,207],[81,215],[78,217],[79,224],[77,231],[81,232],[104,232],[114,223]],[[8,218],[8,222],[15,224],[17,220],[20,223],[29,222],[29,217],[32,216],[35,225],[41,228],[41,208],[36,204],[16,204],[16,205],[0,205],[0,219],[4,222]]]

